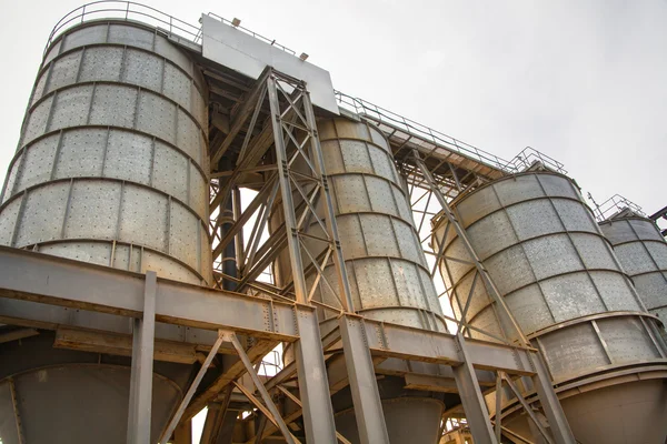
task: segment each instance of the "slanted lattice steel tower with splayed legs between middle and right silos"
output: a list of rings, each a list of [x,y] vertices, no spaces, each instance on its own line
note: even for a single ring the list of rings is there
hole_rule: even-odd
[[[499,416],[497,415],[497,420],[496,420],[497,423],[496,423],[496,427],[494,431],[494,428],[491,427],[491,425],[489,423],[489,413],[486,407],[486,404],[484,403],[481,391],[477,384],[477,381],[475,380],[475,374],[472,373],[472,367],[470,365],[468,365],[468,361],[469,361],[469,359],[468,359],[468,342],[469,341],[465,340],[464,334],[462,334],[466,332],[466,330],[469,330],[471,327],[470,325],[466,324],[464,322],[464,320],[465,320],[465,313],[468,310],[468,303],[471,300],[471,294],[475,290],[475,284],[477,283],[478,279],[485,285],[489,295],[491,296],[491,299],[495,302],[496,315],[498,317],[500,329],[501,329],[505,337],[509,337],[510,335],[514,337],[517,337],[518,345],[522,349],[528,350],[528,349],[531,349],[531,346],[530,346],[528,339],[524,335],[524,332],[521,331],[521,329],[517,324],[516,320],[511,315],[509,307],[507,306],[504,297],[500,295],[499,291],[497,290],[494,281],[491,280],[491,276],[489,275],[489,273],[482,265],[481,261],[479,260],[479,256],[477,255],[475,249],[472,248],[472,244],[468,240],[466,230],[459,223],[454,211],[449,208],[449,203],[447,201],[446,194],[442,192],[442,190],[438,185],[438,182],[436,182],[436,180],[434,179],[431,171],[428,169],[428,167],[424,162],[421,154],[417,150],[412,151],[412,161],[416,164],[418,171],[420,172],[420,174],[422,176],[422,182],[426,184],[428,192],[436,196],[438,203],[440,204],[444,215],[449,221],[448,229],[449,229],[449,226],[452,226],[454,230],[456,231],[456,235],[461,240],[461,242],[464,244],[466,256],[459,258],[459,259],[457,259],[457,261],[467,262],[467,263],[474,265],[476,269],[475,278],[474,278],[474,281],[471,284],[471,289],[470,289],[470,295],[468,297],[466,306],[462,307],[464,315],[461,315],[461,320],[455,320],[458,324],[457,326],[458,326],[458,332],[459,332],[457,334],[457,345],[459,346],[459,352],[462,356],[462,361],[465,362],[464,365],[455,367],[455,376],[456,376],[457,385],[459,386],[459,393],[461,393],[461,403],[464,404],[464,410],[466,411],[466,415],[467,415],[468,422],[470,424],[470,431],[472,433],[475,442],[476,443],[489,443],[489,444],[499,443],[500,433],[501,433],[501,424],[500,424]],[[455,174],[455,178],[456,178],[456,174]],[[459,191],[460,191],[460,184],[458,181],[457,181],[457,186],[459,188]],[[430,194],[429,194],[429,198],[430,198]],[[428,211],[428,208],[426,209],[426,211]],[[441,252],[440,252],[440,255],[441,255]],[[439,256],[436,258],[436,266],[437,266],[439,259],[440,259]],[[490,335],[487,332],[485,332],[485,333],[487,335]],[[509,344],[510,343],[509,340],[507,340],[505,337],[500,339],[500,341]],[[555,442],[557,444],[574,444],[576,442],[574,434],[569,427],[567,418],[565,417],[565,413],[563,412],[563,407],[560,406],[560,402],[558,401],[556,392],[554,391],[554,386],[551,385],[552,379],[551,379],[549,371],[544,362],[542,356],[539,354],[539,352],[537,352],[537,353],[529,354],[528,357],[529,357],[530,366],[535,370],[534,374],[531,375],[532,384],[536,387],[541,407],[542,407],[542,410],[547,416],[547,420],[549,422],[549,426],[550,426],[550,431],[551,431],[554,441],[551,441],[551,437],[547,434],[547,432],[541,427],[539,422],[536,420],[536,417],[531,411],[531,407],[526,402],[526,400],[524,398],[524,396],[519,392],[519,390],[514,385],[514,382],[511,381],[511,379],[507,377],[502,371],[497,372],[498,373],[498,376],[497,376],[498,384],[497,384],[496,389],[498,391],[498,395],[500,395],[499,389],[501,386],[501,382],[507,383],[508,386],[511,389],[512,393],[515,394],[515,396],[517,397],[517,400],[519,401],[519,403],[526,410],[532,424],[535,425],[535,428],[537,428],[539,431],[539,434],[547,443],[550,444],[551,442]],[[498,402],[498,400],[497,400],[497,402]]]

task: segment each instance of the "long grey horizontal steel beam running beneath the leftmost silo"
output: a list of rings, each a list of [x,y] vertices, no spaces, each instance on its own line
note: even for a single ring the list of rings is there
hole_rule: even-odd
[[[139,319],[142,274],[0,246],[0,297]],[[228,329],[293,342],[297,310],[315,309],[158,280],[156,320],[205,330]],[[0,312],[0,316],[3,313]]]

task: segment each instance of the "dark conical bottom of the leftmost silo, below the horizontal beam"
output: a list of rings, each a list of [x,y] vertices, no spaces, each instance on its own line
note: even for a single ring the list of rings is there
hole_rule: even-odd
[[[0,345],[2,444],[21,443],[14,408],[24,443],[126,442],[130,359],[53,349],[52,344],[53,334],[40,331],[38,336]],[[190,365],[155,363],[151,442],[159,440],[178,407],[190,370]]]

